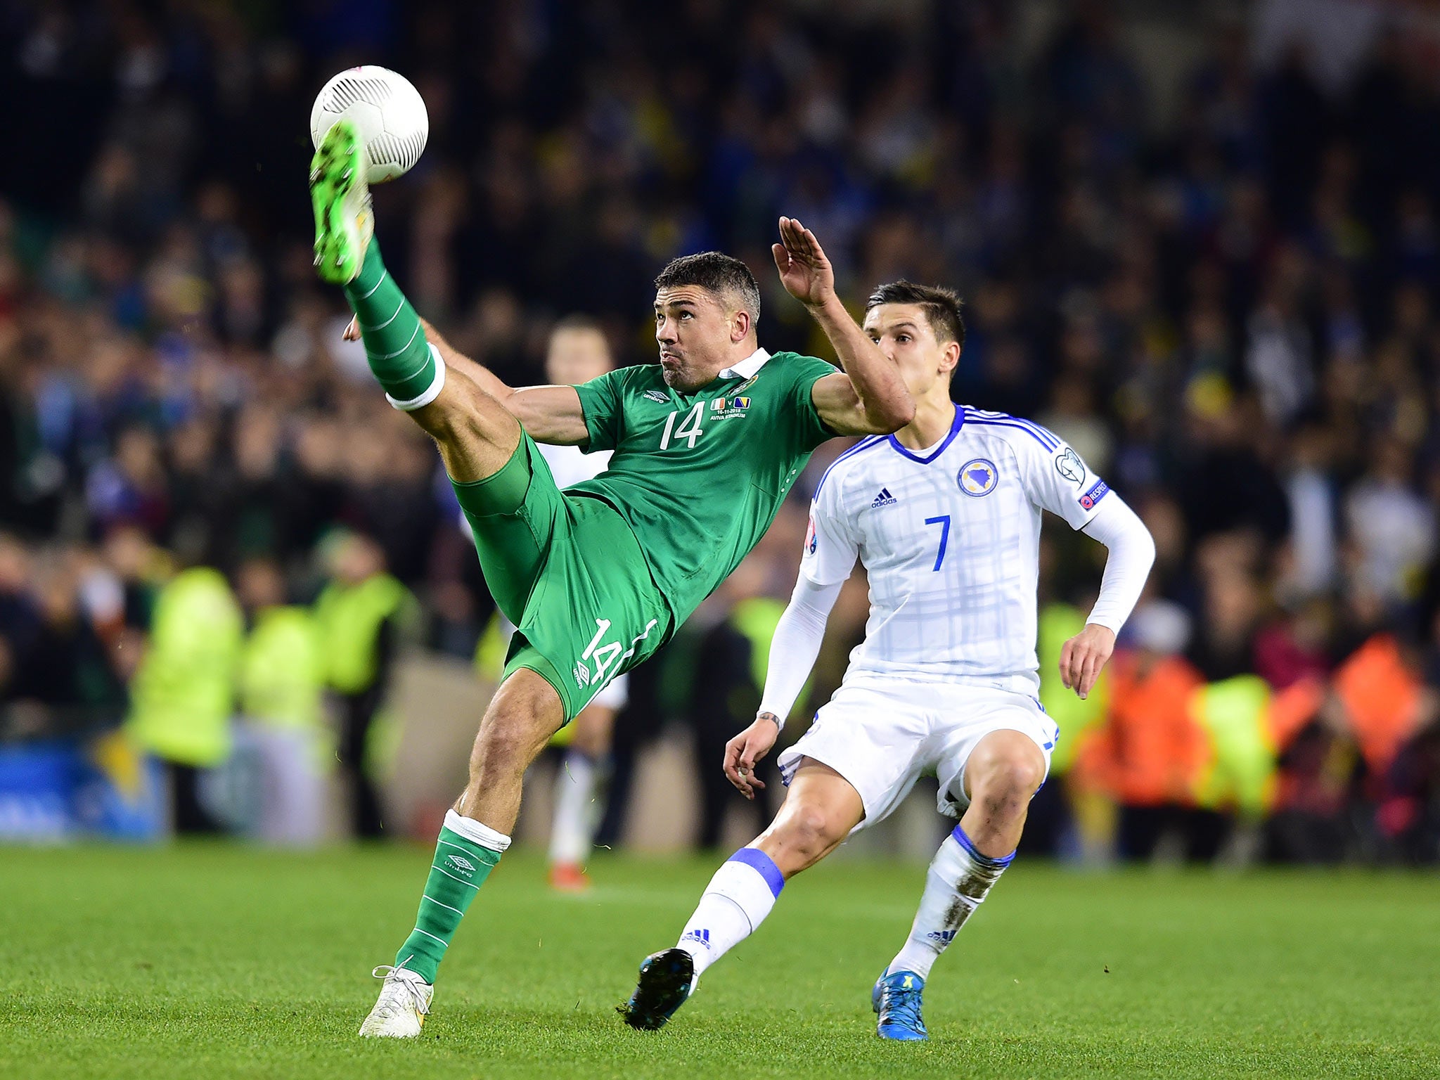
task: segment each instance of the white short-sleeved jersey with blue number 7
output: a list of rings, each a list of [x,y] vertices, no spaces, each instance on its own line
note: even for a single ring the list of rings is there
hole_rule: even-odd
[[[1040,511],[1080,528],[1107,491],[1057,435],[968,406],[926,452],[877,435],[841,454],[815,491],[801,573],[834,585],[858,556],[870,576],[847,680],[1038,688]]]

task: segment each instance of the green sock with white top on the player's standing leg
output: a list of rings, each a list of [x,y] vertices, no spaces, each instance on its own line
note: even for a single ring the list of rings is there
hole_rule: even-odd
[[[485,847],[472,837],[461,835],[454,828],[456,825],[472,835],[488,834],[487,841],[495,847]],[[420,897],[420,910],[415,916],[415,929],[395,955],[396,968],[413,971],[426,982],[435,982],[435,972],[449,948],[451,937],[459,929],[465,909],[500,861],[500,852],[508,845],[510,837],[503,837],[478,821],[461,818],[455,811],[445,815],[445,827],[435,844],[431,876]]]

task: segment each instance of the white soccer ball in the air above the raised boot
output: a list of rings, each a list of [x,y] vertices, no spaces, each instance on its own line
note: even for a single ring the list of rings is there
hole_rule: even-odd
[[[350,68],[327,82],[310,109],[310,138],[315,148],[341,117],[360,132],[372,184],[405,176],[420,160],[431,135],[425,99],[408,78],[373,63]]]

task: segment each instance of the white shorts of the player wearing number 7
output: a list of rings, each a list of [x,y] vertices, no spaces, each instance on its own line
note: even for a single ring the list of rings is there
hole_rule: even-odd
[[[867,674],[835,691],[778,765],[786,785],[804,757],[850,780],[865,805],[865,819],[855,831],[884,821],[922,776],[940,782],[937,809],[958,818],[971,802],[965,763],[991,732],[1034,739],[1048,772],[1060,729],[1030,694]]]

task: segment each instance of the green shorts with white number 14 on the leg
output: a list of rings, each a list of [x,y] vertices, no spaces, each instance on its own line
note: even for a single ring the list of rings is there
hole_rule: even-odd
[[[567,495],[528,435],[500,472],[455,484],[495,605],[516,624],[505,677],[530,668],[570,723],[622,671],[651,657],[674,616],[635,533],[608,503]]]

